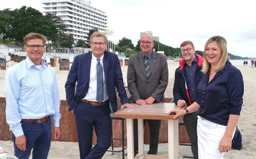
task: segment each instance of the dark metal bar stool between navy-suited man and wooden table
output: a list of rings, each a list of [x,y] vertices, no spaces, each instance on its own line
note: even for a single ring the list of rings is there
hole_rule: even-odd
[[[112,152],[112,155],[114,155],[114,153],[121,153],[122,152],[123,159],[124,159],[124,150],[127,148],[127,147],[124,147],[124,141],[127,140],[126,138],[124,138],[124,120],[125,119],[123,119],[121,117],[114,116],[114,113],[112,113],[112,112],[110,113],[110,116],[111,116],[111,120],[122,120],[122,138],[113,137],[113,134],[112,134],[113,131],[112,131],[111,132],[111,149],[112,150],[107,150],[107,151]],[[113,140],[122,140],[122,150],[114,150]]]

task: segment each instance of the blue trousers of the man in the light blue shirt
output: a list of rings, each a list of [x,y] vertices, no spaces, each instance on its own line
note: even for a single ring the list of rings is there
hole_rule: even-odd
[[[30,123],[21,121],[21,127],[26,137],[26,151],[18,149],[15,143],[16,137],[12,134],[14,155],[18,159],[28,159],[31,150],[33,159],[47,159],[52,140],[52,122]]]

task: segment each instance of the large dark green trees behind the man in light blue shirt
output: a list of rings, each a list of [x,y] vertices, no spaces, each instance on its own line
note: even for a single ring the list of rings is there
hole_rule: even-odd
[[[0,35],[3,43],[15,41],[19,47],[23,46],[23,37],[30,32],[43,34],[49,43],[55,48],[71,47],[74,44],[72,34],[68,26],[54,14],[43,15],[39,10],[22,6],[19,9],[10,8],[0,10]]]

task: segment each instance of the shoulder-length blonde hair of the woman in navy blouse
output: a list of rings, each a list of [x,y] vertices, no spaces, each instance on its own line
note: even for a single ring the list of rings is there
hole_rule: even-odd
[[[211,63],[209,63],[206,59],[206,55],[205,55],[205,52],[206,52],[206,47],[209,43],[212,43],[216,41],[221,49],[221,57],[220,57],[220,61],[217,63],[217,67],[214,68],[215,71],[220,71],[224,68],[225,66],[225,63],[228,59],[228,49],[227,49],[227,41],[224,37],[222,36],[212,36],[210,37],[205,46],[204,46],[204,60],[203,60],[203,69],[202,69],[202,72],[204,74],[209,74],[209,72],[211,71]]]

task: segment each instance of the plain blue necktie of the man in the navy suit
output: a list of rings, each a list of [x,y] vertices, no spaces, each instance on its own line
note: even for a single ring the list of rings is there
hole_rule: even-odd
[[[103,101],[104,95],[103,95],[103,71],[102,71],[102,65],[100,63],[101,59],[97,58],[97,95],[96,100],[101,103]]]

